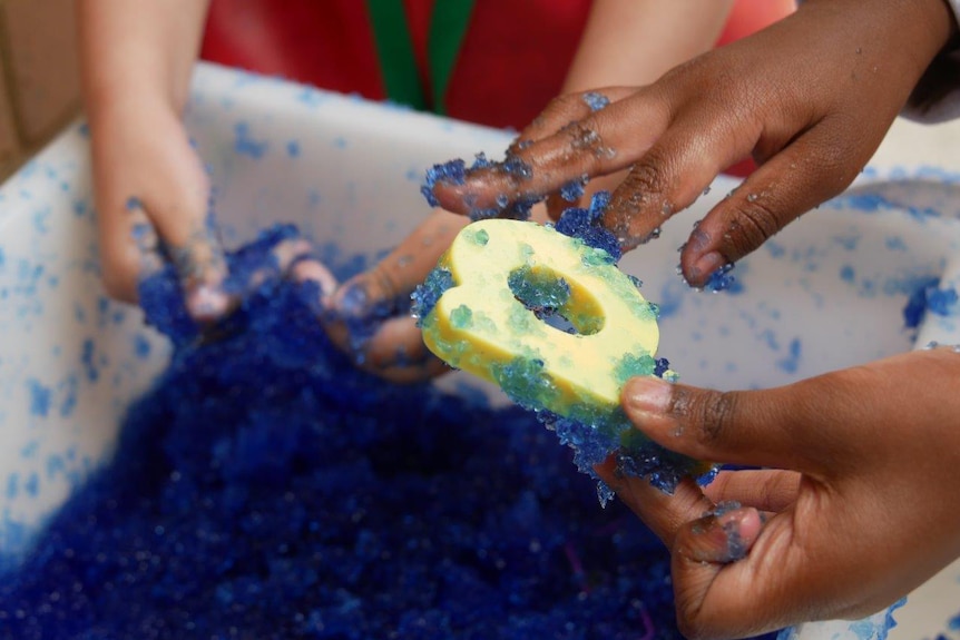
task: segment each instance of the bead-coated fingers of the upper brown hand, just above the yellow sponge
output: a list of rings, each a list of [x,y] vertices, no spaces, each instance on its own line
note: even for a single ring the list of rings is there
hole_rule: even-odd
[[[628,167],[670,119],[666,100],[652,90],[640,89],[595,112],[577,100],[557,102],[548,120],[535,125],[532,132],[525,131],[506,163],[468,171],[462,179],[440,180],[433,185],[433,196],[444,209],[458,214],[512,215],[517,203],[542,199],[585,175],[603,176]],[[570,117],[585,110],[586,117]],[[533,138],[554,127],[554,132]]]

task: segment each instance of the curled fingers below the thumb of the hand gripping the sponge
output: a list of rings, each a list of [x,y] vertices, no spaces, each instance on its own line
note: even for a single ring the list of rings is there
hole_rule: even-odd
[[[668,495],[645,479],[617,476],[615,466],[608,461],[597,473],[670,550],[685,638],[754,636],[815,616],[830,602],[829,583],[817,577],[830,553],[821,553],[822,541],[799,542],[792,506],[767,520],[754,505],[714,503],[693,480]]]

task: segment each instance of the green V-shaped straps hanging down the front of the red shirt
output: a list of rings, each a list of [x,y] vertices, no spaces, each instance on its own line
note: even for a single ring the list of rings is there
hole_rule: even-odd
[[[386,97],[415,109],[447,114],[444,96],[470,24],[474,0],[434,0],[427,41],[430,99],[417,71],[403,0],[366,0]]]

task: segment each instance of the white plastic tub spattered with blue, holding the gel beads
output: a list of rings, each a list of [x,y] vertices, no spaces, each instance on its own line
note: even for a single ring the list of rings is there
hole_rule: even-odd
[[[344,252],[370,254],[427,214],[418,187],[429,165],[480,150],[496,157],[510,139],[210,66],[196,73],[187,124],[210,166],[229,243],[283,220]],[[903,307],[922,278],[960,286],[960,187],[942,163],[932,170],[898,165],[901,145],[884,146],[856,188],[883,191],[902,207],[812,211],[736,267],[738,291],[697,294],[674,272],[676,247],[734,186],[729,179],[624,259],[662,305],[660,353],[685,381],[764,387],[930,339],[960,343],[957,317],[930,316],[919,332],[903,327]],[[109,454],[119,416],[168,355],[140,314],[100,287],[87,155],[85,128],[72,126],[0,188],[0,567],[16,563],[45,515]],[[908,210],[928,205],[947,215]],[[958,612],[953,567],[895,613],[892,637],[949,636]],[[796,631],[830,640],[866,638],[871,629],[831,622]]]

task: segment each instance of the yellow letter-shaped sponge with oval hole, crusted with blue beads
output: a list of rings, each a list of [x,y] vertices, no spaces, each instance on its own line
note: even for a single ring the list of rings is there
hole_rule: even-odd
[[[669,466],[654,480],[672,489],[680,475],[708,467],[647,441],[620,407],[629,377],[675,377],[654,357],[657,307],[607,252],[551,227],[473,223],[418,294],[423,339],[441,360],[497,383],[519,404],[585,425],[567,437],[588,454],[581,469],[619,450],[636,475]],[[557,326],[562,321],[566,328]]]

